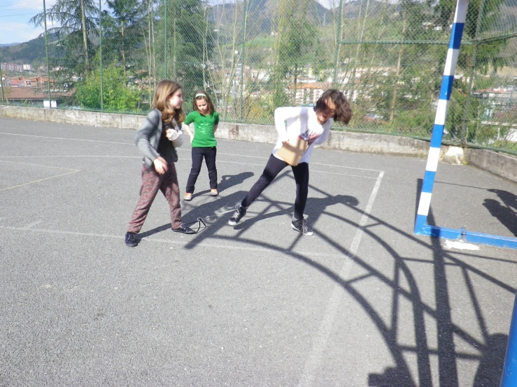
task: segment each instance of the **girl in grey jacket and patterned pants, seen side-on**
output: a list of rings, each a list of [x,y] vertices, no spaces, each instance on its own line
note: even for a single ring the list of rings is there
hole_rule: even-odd
[[[181,220],[180,190],[174,166],[174,162],[178,161],[178,155],[171,142],[181,131],[178,125],[185,120],[185,113],[181,110],[182,103],[181,86],[172,80],[162,80],[156,88],[153,100],[155,110],[148,114],[136,133],[135,143],[143,154],[142,185],[140,198],[125,236],[125,243],[129,247],[138,244],[136,234],[146,221],[158,190],[162,191],[169,202],[172,231],[195,233]]]

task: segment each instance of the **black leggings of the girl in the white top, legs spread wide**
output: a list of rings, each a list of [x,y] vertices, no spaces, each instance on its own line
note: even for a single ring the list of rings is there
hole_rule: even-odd
[[[285,161],[277,159],[271,154],[267,161],[266,168],[264,168],[264,172],[262,172],[262,176],[260,176],[259,180],[257,180],[255,184],[253,184],[253,187],[251,187],[246,198],[242,200],[241,205],[243,207],[248,207],[253,203],[255,199],[262,194],[262,191],[271,184],[276,175],[278,175],[278,173],[288,165],[289,164]],[[294,218],[304,219],[305,204],[307,203],[307,194],[309,194],[309,164],[299,163],[297,166],[292,166],[291,168],[292,173],[295,175],[296,182]]]

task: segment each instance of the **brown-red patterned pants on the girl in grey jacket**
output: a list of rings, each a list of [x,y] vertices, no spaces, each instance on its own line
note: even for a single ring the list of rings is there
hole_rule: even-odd
[[[172,161],[167,163],[167,166],[169,168],[167,172],[160,175],[156,172],[155,166],[147,168],[145,164],[143,165],[140,198],[139,202],[136,203],[136,208],[134,209],[131,221],[129,221],[127,231],[139,233],[143,222],[146,221],[147,214],[159,189],[169,202],[172,228],[178,228],[183,223],[181,221],[180,189],[178,187],[176,167]]]

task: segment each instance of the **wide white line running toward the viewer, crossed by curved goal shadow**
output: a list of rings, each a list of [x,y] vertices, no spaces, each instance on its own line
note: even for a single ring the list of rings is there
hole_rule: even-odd
[[[350,254],[348,256],[348,259],[345,261],[343,267],[341,268],[341,271],[339,272],[339,277],[341,278],[346,278],[350,274],[352,263],[354,261],[354,256],[355,254],[357,254],[357,250],[359,249],[359,244],[361,242],[362,235],[364,235],[364,226],[366,226],[367,224],[369,213],[371,212],[371,207],[373,207],[378,189],[379,187],[381,187],[381,180],[383,178],[383,175],[384,172],[378,174],[375,187],[373,191],[371,191],[368,204],[359,222],[359,228],[357,228],[357,231],[355,232],[352,245],[350,247]],[[323,351],[325,351],[325,347],[327,346],[327,341],[330,337],[332,325],[334,323],[334,319],[336,318],[339,302],[341,302],[343,295],[344,289],[341,287],[341,285],[334,284],[334,291],[332,292],[332,297],[330,298],[330,301],[327,305],[327,311],[323,315],[323,319],[321,321],[318,333],[316,334],[316,337],[313,340],[311,353],[309,353],[309,358],[306,360],[304,372],[302,373],[302,377],[300,378],[298,384],[299,386],[305,387],[313,385],[314,378],[316,377],[316,372],[320,367]]]

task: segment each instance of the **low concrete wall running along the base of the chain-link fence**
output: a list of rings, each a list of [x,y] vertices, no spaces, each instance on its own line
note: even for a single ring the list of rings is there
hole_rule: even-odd
[[[141,122],[145,119],[144,115],[24,108],[7,105],[0,105],[0,117],[135,130],[139,129]],[[218,138],[227,140],[269,144],[276,143],[277,139],[276,129],[273,125],[237,124],[231,122],[220,122],[216,135]],[[322,147],[348,152],[396,154],[423,158],[427,157],[427,152],[429,152],[429,143],[427,141],[400,136],[348,131],[331,131],[327,143],[322,145]],[[447,147],[442,148],[446,150]],[[465,159],[473,166],[517,182],[516,157],[484,149],[467,149]]]

